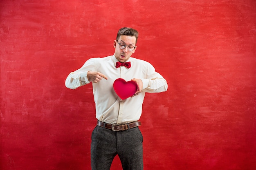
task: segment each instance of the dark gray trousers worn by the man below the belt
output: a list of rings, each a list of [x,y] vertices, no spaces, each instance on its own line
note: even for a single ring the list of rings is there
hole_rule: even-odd
[[[96,126],[92,132],[92,170],[110,170],[116,155],[123,170],[143,170],[142,141],[138,127],[116,132]]]

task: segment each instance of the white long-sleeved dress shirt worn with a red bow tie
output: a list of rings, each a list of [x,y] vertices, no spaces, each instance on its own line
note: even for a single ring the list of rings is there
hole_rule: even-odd
[[[96,118],[108,124],[126,124],[139,120],[142,112],[142,103],[145,93],[159,93],[167,90],[166,80],[155,71],[155,68],[144,60],[130,57],[128,69],[125,66],[115,68],[115,55],[103,58],[91,58],[78,70],[71,72],[65,81],[67,88],[76,89],[90,83],[88,71],[98,71],[108,79],[101,79],[92,83],[94,102],[96,104]],[[133,78],[141,79],[143,89],[139,95],[120,99],[114,91],[113,83],[117,78],[130,81]]]

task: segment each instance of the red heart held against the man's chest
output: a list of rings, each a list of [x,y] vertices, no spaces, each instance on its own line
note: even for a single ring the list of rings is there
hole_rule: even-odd
[[[122,99],[127,99],[128,97],[131,97],[134,95],[134,93],[138,89],[138,85],[134,81],[128,81],[126,82],[124,79],[116,79],[113,84],[114,90],[117,93],[117,95]]]

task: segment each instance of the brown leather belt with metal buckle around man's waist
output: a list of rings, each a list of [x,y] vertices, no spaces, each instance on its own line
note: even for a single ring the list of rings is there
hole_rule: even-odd
[[[135,128],[135,127],[141,126],[141,122],[135,121],[135,122],[132,122],[129,124],[107,124],[107,123],[104,123],[104,122],[98,120],[97,125],[101,126],[103,128],[111,129],[113,131],[122,131],[122,130],[127,130],[130,128]]]

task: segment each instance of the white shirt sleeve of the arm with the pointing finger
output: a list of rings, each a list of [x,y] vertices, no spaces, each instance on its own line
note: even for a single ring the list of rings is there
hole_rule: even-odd
[[[87,77],[88,71],[95,70],[95,58],[91,58],[83,64],[78,70],[71,72],[65,81],[65,86],[70,89],[76,89],[80,86],[90,83]]]

